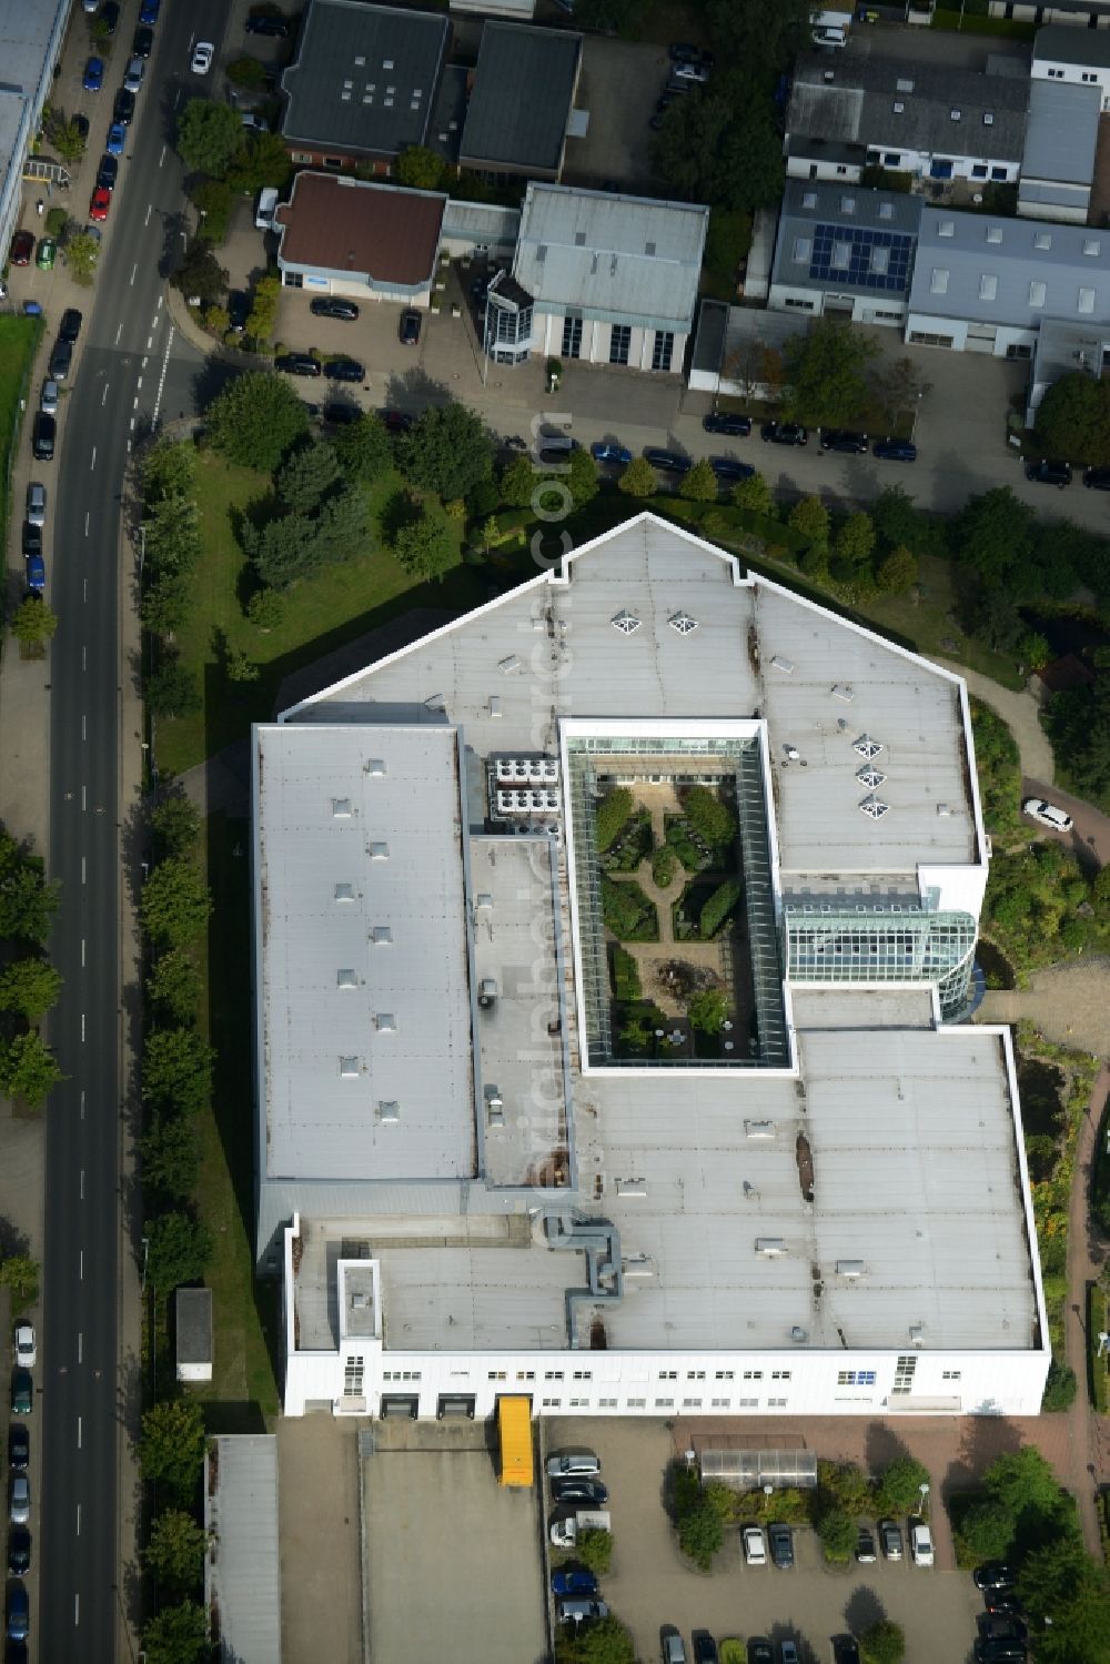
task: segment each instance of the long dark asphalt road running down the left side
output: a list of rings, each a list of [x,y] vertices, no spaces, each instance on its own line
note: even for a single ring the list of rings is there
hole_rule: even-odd
[[[126,7],[121,33],[136,10]],[[131,1240],[140,1235],[136,1201],[121,1196],[120,1181],[128,1090],[120,1057],[120,884],[133,877],[118,824],[118,606],[120,586],[131,584],[121,496],[128,446],[156,419],[160,394],[166,384],[178,398],[190,394],[203,369],[198,354],[171,338],[161,301],[161,273],[181,250],[181,170],[168,138],[175,98],[188,90],[190,42],[200,32],[220,43],[225,12],[220,0],[163,7],[50,484],[50,601],[60,619],[50,874],[62,880],[52,958],[65,978],[52,1040],[68,1077],[52,1093],[47,1122],[42,1599],[32,1639],[35,1656],[50,1664],[113,1664],[118,1619],[133,1592],[120,1581],[116,1494],[121,1419],[136,1391],[118,1359],[120,1226]],[[113,63],[121,57],[116,50]],[[103,143],[113,92],[115,82],[92,111],[95,143]]]

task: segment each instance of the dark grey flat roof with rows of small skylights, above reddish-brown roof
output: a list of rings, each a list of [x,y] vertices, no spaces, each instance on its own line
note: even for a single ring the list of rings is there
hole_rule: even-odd
[[[281,136],[383,156],[423,145],[449,35],[431,12],[313,0],[281,77]]]

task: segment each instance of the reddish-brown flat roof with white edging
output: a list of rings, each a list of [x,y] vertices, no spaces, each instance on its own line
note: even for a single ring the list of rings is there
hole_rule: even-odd
[[[414,288],[434,273],[444,206],[429,191],[298,173],[276,213],[281,260]]]

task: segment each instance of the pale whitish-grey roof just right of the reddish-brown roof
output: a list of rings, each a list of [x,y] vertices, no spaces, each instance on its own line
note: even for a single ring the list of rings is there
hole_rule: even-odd
[[[694,203],[533,183],[513,276],[539,313],[687,333],[707,226]]]

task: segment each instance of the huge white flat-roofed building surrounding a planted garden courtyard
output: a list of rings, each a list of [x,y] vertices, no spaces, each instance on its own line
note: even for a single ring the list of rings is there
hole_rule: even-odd
[[[656,897],[621,1003],[597,799],[697,784],[739,922]],[[255,807],[286,1413],[1038,1408],[957,677],[644,514],[258,727]]]

